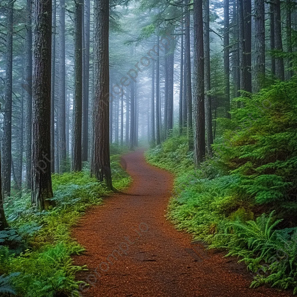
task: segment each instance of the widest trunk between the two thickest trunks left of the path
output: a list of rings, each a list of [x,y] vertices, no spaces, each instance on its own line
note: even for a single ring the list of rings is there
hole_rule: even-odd
[[[71,170],[81,171],[81,133],[83,104],[83,46],[82,14],[83,5],[75,0],[74,5],[74,98],[72,125]]]

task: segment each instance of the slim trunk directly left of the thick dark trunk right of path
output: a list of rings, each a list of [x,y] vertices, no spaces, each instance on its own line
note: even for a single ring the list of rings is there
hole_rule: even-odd
[[[185,1],[188,4],[189,0]],[[185,20],[186,20],[186,35],[185,35],[185,90],[184,94],[187,98],[187,136],[189,138],[189,149],[193,149],[192,144],[192,82],[191,82],[191,47],[190,47],[190,10],[189,6],[185,7]],[[203,40],[203,37],[202,37]],[[204,66],[203,66],[204,67]],[[203,77],[204,80],[204,77]]]

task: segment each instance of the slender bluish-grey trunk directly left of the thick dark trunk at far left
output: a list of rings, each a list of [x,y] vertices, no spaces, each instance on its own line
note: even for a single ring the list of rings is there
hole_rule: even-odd
[[[31,141],[32,141],[32,1],[26,1],[26,188],[31,189]]]

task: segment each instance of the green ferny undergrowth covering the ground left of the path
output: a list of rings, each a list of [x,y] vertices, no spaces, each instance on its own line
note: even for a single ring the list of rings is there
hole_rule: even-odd
[[[126,150],[111,148],[113,186],[124,189],[131,181],[121,167],[120,155]],[[80,173],[52,175],[56,207],[39,212],[31,208],[30,193],[23,192],[5,205],[10,229],[0,232],[0,296],[69,296],[79,288],[78,271],[71,255],[83,252],[71,229],[92,205],[108,195],[103,182],[89,175],[89,165]],[[2,245],[1,245],[2,244]]]

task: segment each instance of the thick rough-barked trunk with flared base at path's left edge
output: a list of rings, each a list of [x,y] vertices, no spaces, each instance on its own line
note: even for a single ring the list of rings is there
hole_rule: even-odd
[[[109,0],[94,1],[93,136],[91,176],[113,190],[109,152]],[[109,104],[108,104],[109,103]]]

